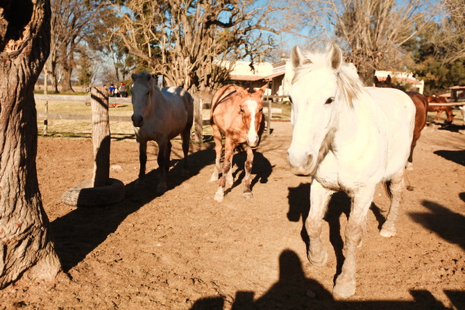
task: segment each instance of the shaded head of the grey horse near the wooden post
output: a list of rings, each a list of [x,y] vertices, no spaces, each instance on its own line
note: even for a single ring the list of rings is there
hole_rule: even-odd
[[[133,103],[133,121],[134,127],[141,127],[144,124],[144,118],[148,117],[151,105],[151,83],[152,76],[149,72],[141,72],[140,74],[133,74],[133,86],[130,87]]]

